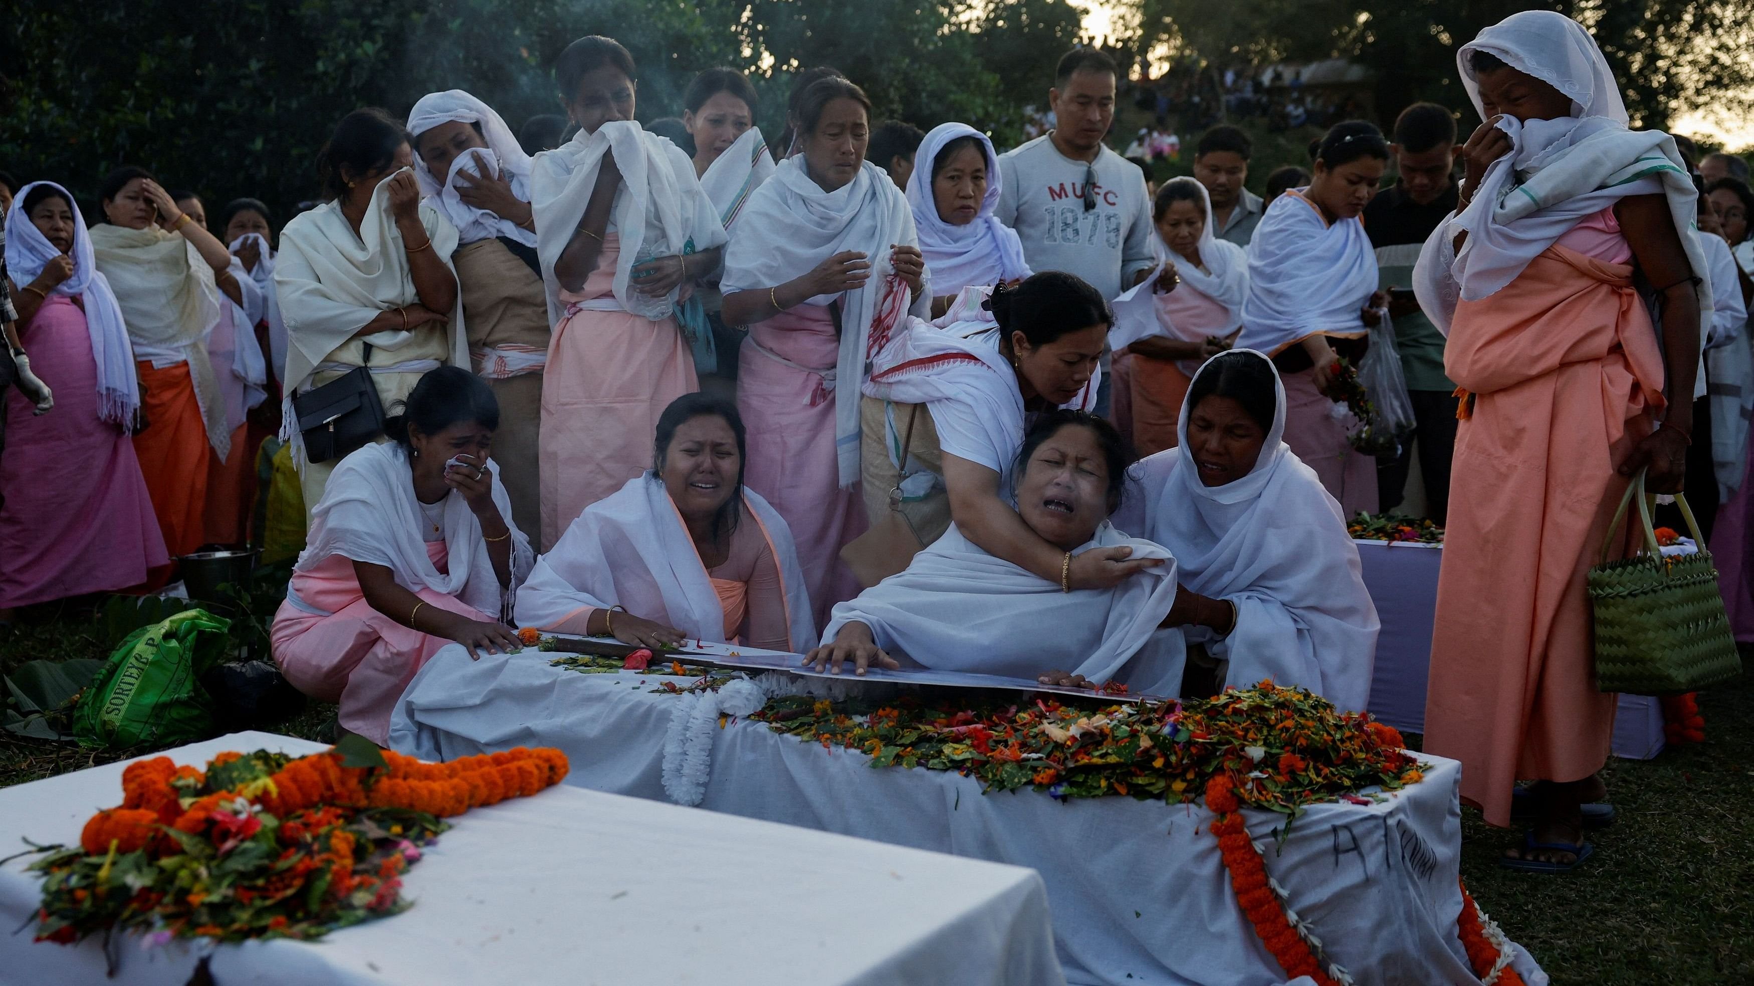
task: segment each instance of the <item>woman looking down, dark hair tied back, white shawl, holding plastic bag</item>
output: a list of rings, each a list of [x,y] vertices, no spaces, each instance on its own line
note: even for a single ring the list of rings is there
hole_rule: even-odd
[[[1358,364],[1387,305],[1359,221],[1387,163],[1389,145],[1375,124],[1342,123],[1321,138],[1308,187],[1275,198],[1249,240],[1249,296],[1237,338],[1273,357],[1289,401],[1286,445],[1347,517],[1377,510],[1377,461],[1352,448],[1330,392],[1340,359]]]

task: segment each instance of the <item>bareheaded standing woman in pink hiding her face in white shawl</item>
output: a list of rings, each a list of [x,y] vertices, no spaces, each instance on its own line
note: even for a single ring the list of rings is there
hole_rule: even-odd
[[[547,287],[542,541],[645,471],[670,401],[700,389],[677,306],[719,268],[724,226],[681,147],[633,121],[633,56],[607,37],[561,53],[554,81],[579,133],[535,158]]]

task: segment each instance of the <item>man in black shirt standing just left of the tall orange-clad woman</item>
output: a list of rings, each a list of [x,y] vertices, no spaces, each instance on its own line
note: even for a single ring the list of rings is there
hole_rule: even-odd
[[[1377,503],[1387,513],[1401,503],[1419,440],[1419,475],[1424,478],[1426,517],[1444,524],[1449,515],[1449,461],[1456,448],[1456,385],[1444,377],[1444,333],[1414,299],[1414,263],[1437,224],[1456,208],[1456,117],[1437,103],[1414,103],[1394,119],[1398,177],[1365,207],[1365,233],[1377,249],[1379,285],[1389,292],[1394,347],[1401,354],[1407,396],[1414,405],[1414,433],[1401,454],[1377,459]]]

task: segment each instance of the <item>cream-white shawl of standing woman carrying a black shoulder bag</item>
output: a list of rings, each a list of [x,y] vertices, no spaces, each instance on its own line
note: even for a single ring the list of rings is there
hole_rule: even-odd
[[[402,172],[396,172],[402,173]],[[293,391],[310,382],[310,373],[332,352],[340,349],[381,312],[417,305],[407,247],[396,219],[389,214],[389,179],[386,175],[365,208],[360,233],[340,212],[339,201],[323,203],[310,212],[295,215],[281,231],[281,256],[275,257],[274,289],[281,298],[281,317],[286,320],[286,399]],[[451,275],[451,254],[456,250],[456,226],[424,201],[419,207],[421,226],[431,238],[433,252]],[[451,364],[468,366],[468,336],[463,331],[461,299],[451,306]],[[407,345],[414,333],[386,329],[365,336],[374,349],[395,352]],[[296,431],[296,417],[286,415],[288,427]]]

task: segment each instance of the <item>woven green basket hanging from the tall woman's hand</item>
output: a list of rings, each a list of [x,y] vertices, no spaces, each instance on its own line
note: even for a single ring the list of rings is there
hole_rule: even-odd
[[[1614,534],[1626,508],[1638,499],[1645,550],[1610,562]],[[1742,657],[1717,590],[1717,569],[1705,550],[1687,497],[1677,494],[1694,555],[1663,557],[1651,525],[1643,473],[1626,487],[1608,524],[1601,564],[1589,569],[1589,601],[1596,616],[1596,688],[1629,695],[1673,695],[1742,674]]]

